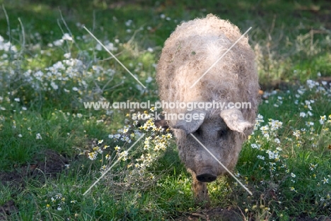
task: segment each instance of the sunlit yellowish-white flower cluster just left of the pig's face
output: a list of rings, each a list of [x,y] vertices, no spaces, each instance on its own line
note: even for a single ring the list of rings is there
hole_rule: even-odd
[[[157,166],[157,160],[163,156],[166,148],[170,145],[173,135],[163,128],[158,128],[153,123],[153,115],[144,112],[146,121],[132,121],[132,124],[125,125],[118,129],[117,133],[108,135],[109,143],[104,145],[104,140],[93,145],[92,150],[84,150],[81,155],[88,159],[102,162],[100,172],[103,174],[110,165],[116,165],[116,169],[108,174],[108,179],[114,182],[114,176],[122,177],[124,186],[148,186],[156,179],[153,174],[153,167]],[[130,122],[130,121],[129,121]],[[131,150],[134,141],[143,137]],[[111,147],[112,146],[112,147]],[[120,163],[122,162],[122,163]],[[106,176],[107,177],[107,176]]]

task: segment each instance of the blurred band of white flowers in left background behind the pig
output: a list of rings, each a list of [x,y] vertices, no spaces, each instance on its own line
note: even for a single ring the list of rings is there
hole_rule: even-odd
[[[129,22],[129,25],[132,24]],[[79,27],[81,28],[81,25]],[[74,47],[81,42],[92,43],[95,47],[75,54]],[[102,42],[112,52],[117,52],[119,48],[123,47],[123,43],[120,43],[120,40],[117,39],[113,41],[102,40]],[[31,50],[39,49],[40,45]],[[68,49],[72,49],[73,52],[68,51]],[[63,51],[65,52],[63,53]],[[141,94],[145,92],[139,83],[125,80],[126,76],[117,73],[123,71],[122,67],[117,71],[117,68],[109,62],[107,64],[100,64],[100,62],[96,64],[95,61],[97,60],[93,59],[92,56],[95,56],[95,52],[101,53],[101,51],[105,52],[103,47],[95,43],[90,35],[74,38],[69,33],[64,33],[61,39],[48,43],[47,48],[38,51],[35,58],[19,59],[23,53],[19,52],[15,45],[4,40],[4,37],[0,35],[1,91],[8,92],[11,103],[15,101],[24,104],[25,107],[22,107],[24,109],[27,109],[28,104],[34,104],[35,101],[45,103],[45,101],[54,102],[59,100],[64,106],[70,105],[71,108],[76,109],[81,107],[82,102],[105,100],[105,97],[109,95],[110,88],[113,89],[124,83],[128,88],[135,87],[141,90]],[[150,51],[141,53],[150,54]],[[52,56],[52,59],[48,59],[48,57],[45,59],[45,56]],[[52,63],[44,62],[35,66],[35,59],[50,60]],[[11,60],[14,61],[11,62]],[[151,73],[155,71],[155,64],[146,65],[137,61],[137,64],[130,62],[126,65],[129,66],[129,69],[134,69],[134,73],[139,73],[140,76],[137,77],[140,80],[145,80],[149,84],[153,81]],[[115,73],[118,74],[118,78],[114,78]],[[13,83],[10,88],[8,88],[8,82]],[[13,88],[16,88],[16,90],[13,90]],[[3,94],[1,93],[1,95]],[[16,100],[13,100],[13,96]],[[0,104],[1,109],[9,109],[9,107]]]

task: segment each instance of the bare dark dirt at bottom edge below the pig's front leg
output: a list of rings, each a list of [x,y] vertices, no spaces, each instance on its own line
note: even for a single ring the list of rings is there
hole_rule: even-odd
[[[195,211],[192,213],[184,213],[180,217],[175,218],[176,221],[242,221],[243,216],[240,210],[233,208],[211,208],[208,210]]]

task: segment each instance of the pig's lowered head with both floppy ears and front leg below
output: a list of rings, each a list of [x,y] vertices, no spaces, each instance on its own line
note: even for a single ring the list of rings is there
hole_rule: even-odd
[[[195,138],[225,167],[232,170],[236,166],[243,141],[251,133],[253,124],[244,119],[239,109],[226,109],[214,114],[203,110],[192,112],[191,114],[203,113],[205,117],[190,122],[179,120],[171,127],[175,129],[180,159],[193,176],[193,189],[197,201],[208,201],[205,183],[226,174],[226,169]],[[190,136],[190,133],[195,138]]]

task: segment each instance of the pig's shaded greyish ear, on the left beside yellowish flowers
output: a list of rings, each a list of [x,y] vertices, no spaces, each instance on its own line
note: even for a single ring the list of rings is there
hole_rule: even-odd
[[[185,115],[186,114],[192,114],[191,116],[195,114],[195,116],[199,116],[199,117],[197,117],[197,119],[192,118],[191,121],[187,121],[186,119],[178,120],[176,121],[175,125],[171,127],[173,129],[182,129],[188,135],[189,133],[193,133],[194,131],[197,131],[197,129],[199,129],[199,126],[201,126],[201,124],[204,122],[205,113],[202,110],[194,109],[190,112],[186,112]]]

